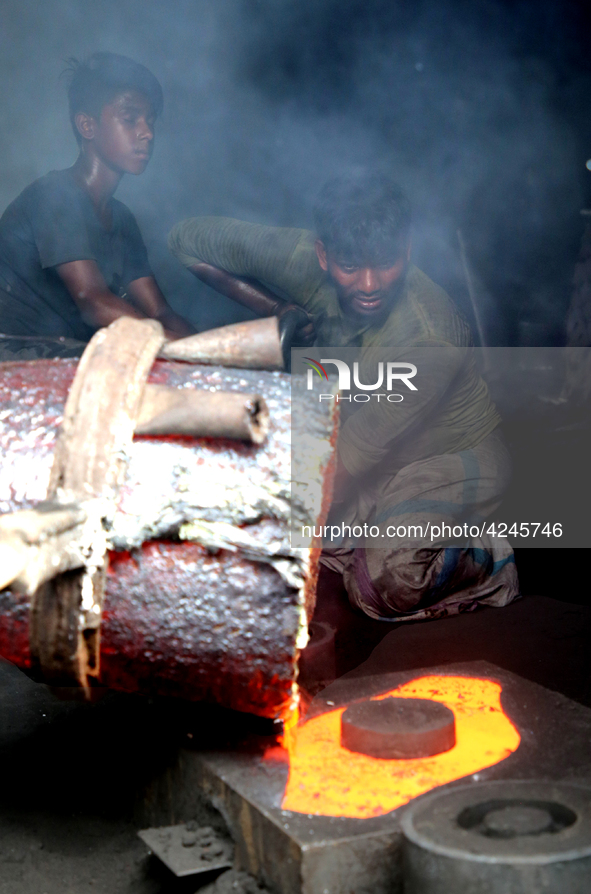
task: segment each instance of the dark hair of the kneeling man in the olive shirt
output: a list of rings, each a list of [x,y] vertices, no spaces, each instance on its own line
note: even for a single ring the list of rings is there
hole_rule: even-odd
[[[388,264],[398,260],[408,246],[410,202],[384,174],[343,175],[320,190],[314,222],[318,238],[339,260]]]

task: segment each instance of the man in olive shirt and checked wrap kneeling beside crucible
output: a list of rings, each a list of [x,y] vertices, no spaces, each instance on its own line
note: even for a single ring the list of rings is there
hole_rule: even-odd
[[[500,504],[510,459],[467,322],[410,261],[408,199],[381,174],[337,177],[320,193],[315,225],[311,233],[202,217],[179,223],[169,245],[201,280],[262,315],[285,313],[273,290],[286,296],[307,315],[300,311],[300,342],[311,342],[313,325],[322,346],[391,348],[410,362],[444,349],[445,363],[434,363],[414,402],[343,404],[332,511],[348,525],[395,522],[397,531],[486,519]],[[383,544],[343,545],[323,557],[342,573],[351,603],[373,618],[441,617],[518,595],[506,540],[485,533],[450,546],[398,535]]]

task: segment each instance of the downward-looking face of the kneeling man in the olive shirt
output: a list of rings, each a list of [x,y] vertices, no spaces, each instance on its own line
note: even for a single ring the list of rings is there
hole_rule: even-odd
[[[410,245],[395,260],[381,266],[356,266],[316,242],[318,262],[333,281],[343,313],[357,322],[385,319],[398,298],[410,259]]]

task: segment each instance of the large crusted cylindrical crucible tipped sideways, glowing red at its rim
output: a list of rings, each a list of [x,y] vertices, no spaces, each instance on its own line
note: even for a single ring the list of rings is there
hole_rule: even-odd
[[[87,616],[96,610],[101,621],[95,676],[115,689],[284,717],[297,702],[298,657],[307,641],[318,562],[317,550],[291,548],[289,525],[294,515],[316,524],[326,513],[336,416],[319,404],[292,413],[291,379],[278,371],[170,360],[145,365],[138,430],[149,433],[130,437],[124,474],[103,522],[109,550],[104,596],[86,606],[83,595],[80,607]],[[68,359],[0,364],[0,513],[46,500],[77,367]],[[183,406],[190,405],[198,421],[199,401],[208,397],[228,394],[240,410],[238,398],[261,396],[248,405],[251,421],[264,402],[268,423],[255,426],[254,435],[238,431],[230,439],[219,436],[214,415],[207,437],[178,425],[165,435],[170,429],[158,407],[162,394],[171,392],[181,403],[186,397]],[[90,386],[86,393],[92,400]],[[160,419],[156,428],[154,418]],[[308,502],[292,495],[292,425],[305,426],[312,444],[302,472],[311,483]],[[91,453],[92,443],[85,450]],[[63,524],[79,521],[66,517]],[[66,583],[76,573],[66,572]],[[26,587],[0,591],[0,654],[25,669],[31,666],[30,608]],[[62,641],[66,648],[68,637]],[[59,675],[54,682],[63,685]]]

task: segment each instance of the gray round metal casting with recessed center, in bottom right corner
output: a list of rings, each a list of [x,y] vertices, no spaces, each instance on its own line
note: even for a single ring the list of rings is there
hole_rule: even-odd
[[[588,894],[591,788],[472,783],[417,798],[402,817],[405,894]]]

